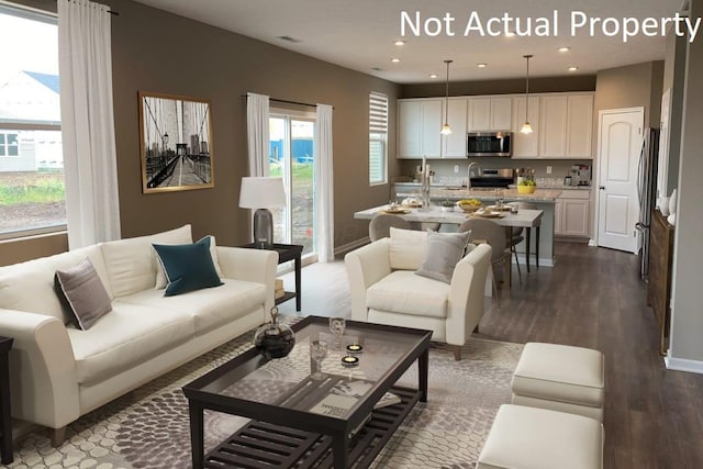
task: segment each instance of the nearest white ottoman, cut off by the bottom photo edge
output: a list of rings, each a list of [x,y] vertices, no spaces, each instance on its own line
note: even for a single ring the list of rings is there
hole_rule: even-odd
[[[602,469],[603,438],[594,418],[503,404],[476,469]]]

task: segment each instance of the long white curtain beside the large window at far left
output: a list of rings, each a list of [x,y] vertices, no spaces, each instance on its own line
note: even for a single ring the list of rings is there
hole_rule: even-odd
[[[109,8],[58,0],[68,247],[120,238]]]

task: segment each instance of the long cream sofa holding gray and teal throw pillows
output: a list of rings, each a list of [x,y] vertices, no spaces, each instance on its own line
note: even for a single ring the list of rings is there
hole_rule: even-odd
[[[14,338],[13,417],[54,428],[58,444],[81,415],[268,320],[275,252],[216,246],[224,284],[164,297],[153,243],[192,243],[191,227],[0,267],[0,335]],[[54,272],[85,258],[112,311],[80,331],[62,310]]]

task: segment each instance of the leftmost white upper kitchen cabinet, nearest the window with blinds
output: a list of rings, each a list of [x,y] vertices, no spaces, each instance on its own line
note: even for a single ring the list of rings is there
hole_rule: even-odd
[[[442,157],[442,99],[398,101],[398,158]]]

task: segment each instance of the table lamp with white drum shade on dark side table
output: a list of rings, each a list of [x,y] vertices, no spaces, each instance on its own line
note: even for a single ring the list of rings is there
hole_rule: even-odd
[[[268,209],[286,206],[282,178],[244,177],[239,190],[239,206],[254,212],[254,243],[265,249],[274,244],[274,216]]]

